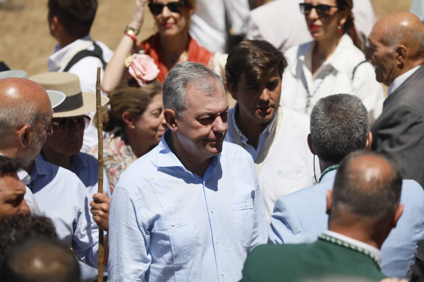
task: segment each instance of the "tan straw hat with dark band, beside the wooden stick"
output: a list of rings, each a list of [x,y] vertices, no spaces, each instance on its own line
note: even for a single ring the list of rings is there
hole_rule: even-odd
[[[86,115],[96,110],[96,95],[81,91],[78,76],[69,72],[45,72],[30,77],[45,90],[56,90],[65,93],[66,98],[53,112],[53,118],[67,118]],[[101,96],[102,107],[109,98]]]

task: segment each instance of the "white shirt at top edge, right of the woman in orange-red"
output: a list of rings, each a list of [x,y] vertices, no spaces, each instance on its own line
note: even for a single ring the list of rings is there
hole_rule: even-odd
[[[197,0],[191,16],[190,36],[212,53],[226,52],[226,7],[234,33],[244,33],[250,11],[247,0]]]

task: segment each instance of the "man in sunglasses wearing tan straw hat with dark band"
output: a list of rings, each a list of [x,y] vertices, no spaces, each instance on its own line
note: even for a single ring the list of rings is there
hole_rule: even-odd
[[[99,203],[103,203],[102,209],[98,210],[98,212],[105,213],[109,209],[110,197],[110,187],[106,172],[103,171],[103,175],[105,176],[103,178],[103,192],[109,197],[104,194],[96,194],[98,190],[97,159],[80,152],[84,129],[90,122],[87,114],[95,111],[96,108],[95,94],[82,92],[78,76],[68,72],[46,72],[36,74],[30,77],[30,79],[37,82],[46,90],[61,91],[66,95],[65,101],[54,109],[51,122],[53,134],[47,136],[39,159],[44,159],[46,162],[74,172],[89,190],[89,194],[94,194],[93,199]],[[105,105],[109,99],[102,96],[101,101],[102,105]],[[51,199],[52,197],[47,197],[47,194],[45,194],[45,197],[42,197],[42,200],[40,200],[40,205],[47,206]],[[49,208],[49,210],[54,211],[55,208]],[[101,216],[98,217],[100,220],[104,220],[101,219]],[[68,222],[68,224],[70,223]],[[60,232],[58,231],[58,233]],[[83,264],[81,265],[81,274],[83,281],[93,281],[96,279],[98,271],[95,268]]]

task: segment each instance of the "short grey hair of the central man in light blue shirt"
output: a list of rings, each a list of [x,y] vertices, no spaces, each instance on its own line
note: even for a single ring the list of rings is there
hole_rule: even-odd
[[[179,116],[187,108],[187,88],[194,87],[204,95],[216,91],[215,79],[225,91],[222,77],[199,63],[185,62],[174,66],[163,83],[164,109],[174,110]]]

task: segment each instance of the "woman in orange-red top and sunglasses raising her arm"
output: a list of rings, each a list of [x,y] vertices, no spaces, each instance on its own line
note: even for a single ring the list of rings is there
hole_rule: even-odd
[[[136,36],[142,27],[146,4],[153,14],[158,32],[137,45]],[[102,89],[111,93],[120,81],[130,78],[124,59],[140,49],[155,61],[159,68],[157,79],[162,83],[168,70],[177,63],[192,61],[212,67],[212,54],[200,47],[188,33],[194,9],[195,0],[136,0],[132,21],[106,66]]]

